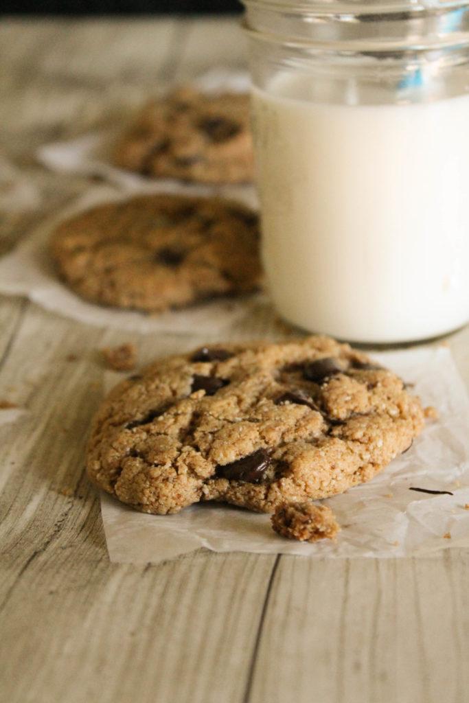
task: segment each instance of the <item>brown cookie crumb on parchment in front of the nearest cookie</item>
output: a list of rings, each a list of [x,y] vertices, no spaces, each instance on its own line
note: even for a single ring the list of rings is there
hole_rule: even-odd
[[[274,531],[281,536],[302,542],[316,542],[326,537],[335,540],[340,532],[332,510],[312,501],[280,505],[271,516],[271,522]]]

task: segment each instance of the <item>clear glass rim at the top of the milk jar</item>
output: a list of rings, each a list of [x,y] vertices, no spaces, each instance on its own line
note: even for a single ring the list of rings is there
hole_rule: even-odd
[[[263,41],[334,51],[428,51],[469,44],[469,1],[242,0]]]

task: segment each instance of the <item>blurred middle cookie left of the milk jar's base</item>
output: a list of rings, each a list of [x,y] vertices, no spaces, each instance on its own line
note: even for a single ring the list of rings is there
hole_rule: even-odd
[[[259,286],[257,214],[234,202],[146,195],[58,226],[58,273],[86,300],[162,311]]]

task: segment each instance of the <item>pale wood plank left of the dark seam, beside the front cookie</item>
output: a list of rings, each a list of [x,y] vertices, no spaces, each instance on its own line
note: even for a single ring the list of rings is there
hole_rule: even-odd
[[[204,551],[148,569],[108,561],[83,451],[101,400],[98,350],[124,338],[30,306],[0,372],[27,408],[15,437],[0,427],[0,660],[11,702],[115,703],[132,692],[150,702],[158,691],[161,701],[208,703],[244,690],[275,557]],[[141,341],[153,357],[154,341]],[[177,337],[163,345],[177,346]]]

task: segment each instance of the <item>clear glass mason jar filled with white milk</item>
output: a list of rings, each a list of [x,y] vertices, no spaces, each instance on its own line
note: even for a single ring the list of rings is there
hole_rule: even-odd
[[[364,343],[469,320],[469,2],[244,0],[271,298]]]

